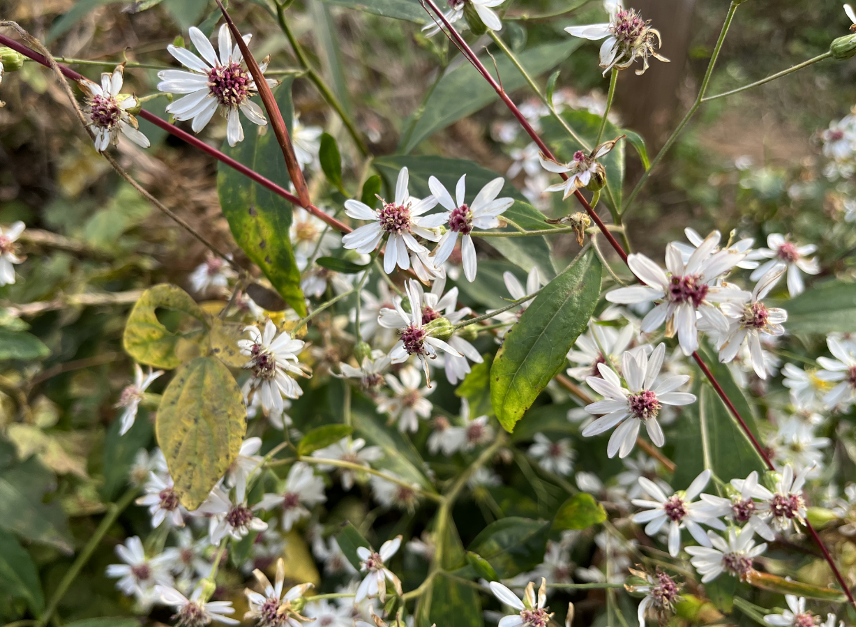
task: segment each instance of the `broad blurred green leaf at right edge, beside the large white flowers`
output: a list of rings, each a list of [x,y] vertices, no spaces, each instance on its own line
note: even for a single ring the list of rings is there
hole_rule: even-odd
[[[771,302],[788,310],[791,333],[856,332],[856,283],[826,281],[795,299]]]

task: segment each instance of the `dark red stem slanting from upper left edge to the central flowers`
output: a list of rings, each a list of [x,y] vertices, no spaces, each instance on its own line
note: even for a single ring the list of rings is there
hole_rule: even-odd
[[[50,67],[51,65],[50,63],[48,63],[47,59],[45,59],[45,56],[40,55],[38,52],[31,50],[26,45],[20,44],[19,42],[15,41],[15,39],[8,38],[3,34],[0,34],[0,44],[9,47],[12,50],[16,50],[17,52],[20,52],[22,55],[33,59],[33,61],[35,62],[41,63],[45,67]],[[78,74],[73,69],[67,68],[62,64],[58,65],[60,70],[62,71],[62,74],[64,74],[67,78],[71,80],[80,80],[83,78],[81,74]],[[336,218],[330,216],[327,213],[324,213],[324,211],[318,209],[318,207],[313,204],[304,206],[300,203],[300,198],[297,198],[296,196],[294,196],[293,193],[288,192],[288,190],[286,190],[282,186],[278,186],[272,180],[266,179],[261,174],[253,172],[252,169],[247,168],[247,166],[243,163],[235,161],[235,159],[233,159],[232,157],[223,154],[223,152],[218,151],[216,148],[212,148],[210,145],[205,144],[205,142],[201,139],[193,136],[190,133],[187,133],[186,131],[181,130],[181,128],[176,127],[174,124],[169,124],[168,121],[162,120],[157,115],[146,111],[146,109],[140,110],[139,115],[144,120],[152,122],[152,124],[154,124],[155,126],[163,128],[163,130],[169,133],[170,135],[173,135],[178,139],[186,141],[187,144],[190,144],[194,148],[198,148],[200,151],[203,151],[211,157],[214,157],[215,159],[217,159],[217,161],[225,163],[229,166],[229,168],[235,169],[241,174],[247,176],[247,178],[259,183],[259,185],[267,187],[277,196],[282,196],[282,198],[288,200],[289,203],[296,204],[299,207],[303,207],[303,209],[311,213],[313,216],[318,217],[320,220],[323,220],[324,222],[329,224],[330,227],[335,228],[337,231],[341,233],[350,233],[353,230],[352,228],[348,227],[347,224],[339,222],[338,220],[336,220]]]

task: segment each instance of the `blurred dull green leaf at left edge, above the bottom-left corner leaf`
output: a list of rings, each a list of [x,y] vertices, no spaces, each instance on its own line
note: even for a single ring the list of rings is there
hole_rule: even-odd
[[[56,501],[42,502],[55,488],[53,473],[36,457],[0,470],[0,529],[71,553],[65,514]]]

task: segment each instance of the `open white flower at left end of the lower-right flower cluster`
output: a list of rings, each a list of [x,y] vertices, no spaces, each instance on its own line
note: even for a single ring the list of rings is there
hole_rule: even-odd
[[[693,539],[704,547],[710,547],[708,535],[704,533],[699,523],[714,529],[725,529],[718,518],[712,518],[704,507],[703,501],[694,500],[710,481],[710,470],[704,470],[690,483],[686,490],[678,490],[671,496],[666,496],[663,490],[650,479],[639,477],[639,485],[652,500],[633,499],[633,505],[645,507],[647,512],[633,514],[634,523],[647,523],[645,534],[654,537],[669,523],[669,555],[673,558],[681,551],[681,529],[687,529]]]

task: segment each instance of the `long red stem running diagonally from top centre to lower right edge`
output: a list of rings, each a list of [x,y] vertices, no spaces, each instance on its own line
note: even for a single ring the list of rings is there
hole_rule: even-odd
[[[479,61],[479,57],[476,56],[475,52],[473,52],[473,49],[470,48],[469,44],[467,44],[467,41],[463,37],[461,37],[461,33],[455,31],[455,28],[452,27],[452,25],[446,19],[445,15],[443,15],[443,11],[437,8],[437,4],[434,3],[434,0],[419,0],[419,2],[422,3],[423,8],[425,8],[425,4],[431,7],[431,10],[437,15],[435,21],[439,19],[443,22],[443,26],[446,27],[445,29],[442,29],[443,33],[445,33],[446,36],[451,39],[452,42],[458,47],[458,49],[461,50],[461,53],[465,57],[467,57],[469,62],[473,64],[473,67],[479,71],[479,74],[484,76],[484,80],[487,80],[488,83],[490,83],[490,86],[494,88],[497,94],[499,94],[499,97],[502,98],[502,101],[506,104],[506,106],[508,106],[508,109],[514,115],[514,117],[516,117],[517,120],[520,121],[520,125],[524,129],[526,129],[526,133],[529,134],[529,137],[532,138],[532,141],[534,141],[538,145],[538,148],[540,148],[541,151],[544,152],[544,155],[546,157],[555,159],[556,157],[553,156],[553,153],[550,152],[550,149],[547,147],[546,144],[544,144],[544,140],[538,136],[538,133],[535,132],[535,129],[532,128],[532,125],[529,123],[529,121],[526,120],[526,117],[520,112],[520,109],[517,108],[517,105],[514,104],[511,98],[508,98],[508,94],[505,92],[504,89],[502,89],[502,86],[499,85],[496,80],[494,80],[493,76],[490,75],[490,72],[487,71],[487,68],[484,67],[484,64]],[[425,8],[425,10],[427,11],[428,9]],[[429,15],[431,15],[430,11],[428,13]],[[433,15],[431,17],[432,19],[434,19]],[[561,174],[561,176],[562,180],[568,180],[567,174]],[[577,190],[574,193],[574,196],[576,196],[577,200],[580,201],[580,204],[582,204],[583,207],[586,209],[586,213],[588,213],[588,215],[591,216],[591,219],[597,224],[597,228],[600,229],[601,233],[603,233],[603,236],[609,241],[609,244],[612,245],[612,247],[615,249],[615,252],[617,252],[618,255],[621,257],[621,260],[624,261],[624,263],[627,263],[627,252],[624,251],[624,249],[621,247],[621,244],[618,243],[618,240],[615,240],[615,237],[613,237],[613,235],[609,233],[609,229],[606,228],[606,225],[603,224],[603,221],[591,209],[591,205],[588,204],[586,198],[582,195],[582,193],[580,193],[580,190]],[[639,277],[637,277],[637,279],[638,278]],[[639,282],[645,285],[645,281]],[[749,429],[749,425],[747,425],[746,421],[744,421],[743,418],[740,417],[740,412],[737,411],[736,407],[734,407],[734,403],[731,402],[731,399],[728,399],[728,394],[725,393],[725,390],[723,390],[722,386],[719,385],[719,382],[716,381],[716,376],[714,376],[713,373],[710,372],[710,368],[708,368],[707,365],[704,364],[704,360],[702,360],[698,352],[693,352],[693,358],[698,364],[698,367],[701,368],[702,372],[704,372],[704,376],[708,378],[710,384],[716,390],[716,393],[719,394],[719,397],[722,399],[722,402],[724,402],[725,405],[728,406],[728,410],[731,411],[732,414],[734,414],[735,418],[737,418],[737,422],[740,423],[740,428],[744,430],[750,441],[752,441],[752,446],[755,447],[755,449],[758,451],[758,454],[761,456],[761,458],[764,459],[764,462],[767,464],[770,470],[774,470],[773,464],[770,462],[770,457],[764,451],[764,447],[761,447],[760,443],[758,443],[758,440],[755,439],[755,435],[752,434],[752,430]],[[835,565],[835,560],[832,559],[832,556],[829,554],[829,551],[823,545],[823,541],[820,539],[820,536],[817,535],[817,532],[811,526],[811,523],[805,521],[805,525],[807,529],[809,529],[809,531],[811,532],[811,537],[814,539],[815,542],[817,542],[817,546],[820,547],[821,551],[823,551],[823,557],[829,563],[829,566],[832,568],[833,573],[835,573],[835,578],[838,580],[838,583],[841,584],[841,588],[844,590],[844,593],[847,594],[847,599],[850,600],[853,606],[856,606],[856,600],[853,599],[853,594],[850,592],[847,583],[844,581],[844,577],[841,576],[841,571],[839,571],[838,567]]]

